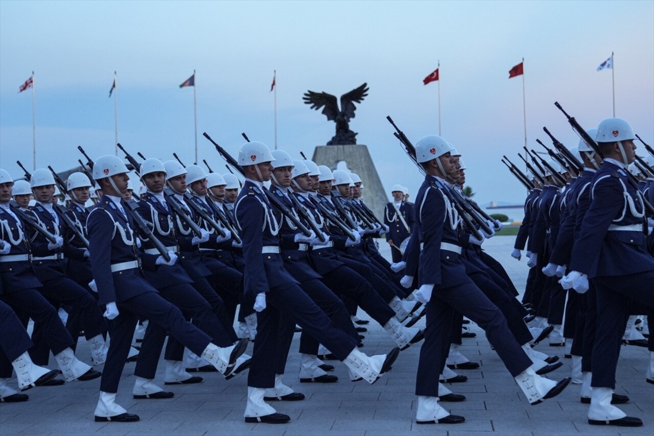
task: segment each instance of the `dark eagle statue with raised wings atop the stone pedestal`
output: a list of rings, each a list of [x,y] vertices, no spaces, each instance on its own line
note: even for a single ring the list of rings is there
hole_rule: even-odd
[[[327,145],[353,145],[356,144],[356,132],[350,130],[350,120],[354,118],[356,106],[354,103],[361,103],[368,96],[368,84],[364,83],[341,96],[341,109],[338,109],[336,96],[326,92],[305,92],[304,103],[311,105],[311,109],[322,109],[322,114],[330,121],[336,122],[336,135]]]

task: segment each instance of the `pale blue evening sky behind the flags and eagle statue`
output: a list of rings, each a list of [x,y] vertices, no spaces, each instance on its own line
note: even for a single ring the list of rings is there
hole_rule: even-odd
[[[654,1],[10,1],[0,0],[0,166],[32,168],[34,71],[37,168],[67,170],[118,141],[162,160],[194,160],[196,70],[199,160],[226,172],[207,132],[233,156],[250,139],[299,158],[334,135],[334,122],[301,100],[338,98],[363,82],[368,97],[350,128],[368,146],[386,191],[413,198],[422,177],[392,136],[390,115],[415,143],[438,134],[466,161],[480,204],[521,204],[525,189],[500,162],[519,158],[547,126],[568,147],[578,137],[553,105],[589,129],[615,114],[654,142]],[[596,67],[614,52],[614,69]],[[644,156],[640,147],[640,154]],[[119,152],[120,155],[120,152]],[[390,192],[388,192],[390,196]],[[365,195],[365,194],[364,194]]]

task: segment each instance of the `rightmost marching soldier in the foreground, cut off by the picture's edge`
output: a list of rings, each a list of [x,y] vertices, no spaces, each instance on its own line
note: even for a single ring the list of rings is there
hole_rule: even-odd
[[[564,289],[596,291],[597,326],[593,348],[591,406],[588,422],[596,426],[640,427],[639,418],[611,405],[621,337],[630,302],[654,308],[654,258],[647,252],[643,196],[627,177],[634,161],[636,136],[621,118],[600,122],[596,142],[604,156],[591,185],[591,206],[572,249]]]

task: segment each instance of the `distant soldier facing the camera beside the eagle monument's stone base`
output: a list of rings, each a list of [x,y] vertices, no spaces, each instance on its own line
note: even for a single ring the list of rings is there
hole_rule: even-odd
[[[411,236],[413,230],[413,208],[404,200],[404,187],[393,185],[390,189],[393,201],[384,208],[384,224],[390,227],[386,242],[390,245],[393,263],[402,262],[402,242]]]

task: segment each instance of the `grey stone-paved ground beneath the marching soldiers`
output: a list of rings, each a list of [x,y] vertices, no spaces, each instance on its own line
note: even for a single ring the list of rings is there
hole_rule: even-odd
[[[518,289],[524,289],[526,260],[517,262],[509,256],[513,236],[492,238],[484,247],[507,268]],[[388,245],[380,240],[388,255]],[[365,314],[360,314],[365,318]],[[424,325],[421,321],[418,325]],[[369,324],[364,348],[367,354],[383,353],[392,342],[379,325]],[[476,338],[464,339],[462,352],[481,368],[458,371],[468,382],[449,386],[468,399],[462,403],[442,403],[453,414],[466,417],[456,425],[415,423],[416,397],[413,393],[415,370],[420,347],[402,352],[393,365],[374,385],[350,382],[345,365],[335,361],[334,384],[300,383],[298,341],[291,348],[284,382],[306,395],[305,401],[275,403],[292,421],[284,425],[245,424],[243,410],[247,391],[247,372],[226,382],[216,372],[203,374],[199,385],[167,386],[175,397],[165,400],[134,400],[133,363],[128,363],[118,393],[118,403],[128,412],[141,416],[135,423],[95,423],[99,379],[72,382],[52,388],[35,388],[27,403],[0,404],[0,435],[654,435],[654,386],[645,383],[647,350],[622,348],[616,392],[629,395],[631,401],[621,405],[627,414],[638,416],[644,427],[595,427],[587,423],[587,405],[579,403],[579,385],[570,385],[555,399],[530,406],[498,356],[490,350],[481,329],[472,325]],[[83,342],[83,341],[80,341]],[[88,347],[80,343],[79,356],[88,361]],[[252,346],[249,346],[251,354]],[[570,359],[563,359],[562,348],[547,344],[538,350],[559,354],[564,366],[550,374],[560,379],[570,373]],[[54,361],[50,362],[54,364]],[[163,363],[157,376],[163,384]],[[15,386],[15,382],[14,383]]]

